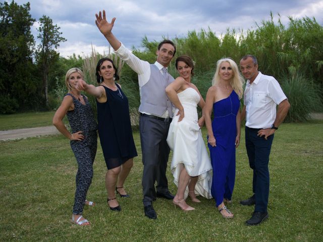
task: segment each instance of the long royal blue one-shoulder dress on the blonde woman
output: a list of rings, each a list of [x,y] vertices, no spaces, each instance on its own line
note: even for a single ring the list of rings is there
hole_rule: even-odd
[[[236,117],[239,107],[240,101],[235,91],[229,97],[213,103],[212,130],[217,146],[208,144],[208,148],[213,168],[211,194],[217,206],[224,198],[231,200],[233,193],[236,175]]]

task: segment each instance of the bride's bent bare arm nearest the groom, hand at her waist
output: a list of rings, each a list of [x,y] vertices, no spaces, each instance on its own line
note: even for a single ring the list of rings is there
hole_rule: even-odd
[[[180,122],[184,117],[184,107],[182,106],[182,103],[180,99],[177,96],[177,91],[181,89],[181,87],[185,84],[185,80],[182,77],[178,77],[175,79],[174,82],[172,82],[170,85],[168,85],[165,89],[167,96],[171,100],[171,102],[175,105],[176,108],[178,108],[178,113],[176,115],[180,115],[178,118],[178,122]]]

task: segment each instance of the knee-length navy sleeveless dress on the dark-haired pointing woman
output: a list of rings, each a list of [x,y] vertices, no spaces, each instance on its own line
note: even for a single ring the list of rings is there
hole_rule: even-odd
[[[106,167],[112,169],[137,156],[137,150],[132,136],[128,98],[119,86],[117,91],[102,87],[107,101],[100,103],[96,100],[98,133]]]

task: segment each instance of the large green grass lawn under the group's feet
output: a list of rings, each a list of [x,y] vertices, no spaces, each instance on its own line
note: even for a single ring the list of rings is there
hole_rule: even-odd
[[[203,130],[205,137],[205,129]],[[214,200],[201,198],[184,212],[172,201],[157,199],[157,220],[144,217],[141,149],[126,181],[129,199],[118,201],[122,212],[106,205],[105,163],[100,146],[84,217],[91,226],[71,223],[76,161],[62,135],[0,142],[0,241],[323,241],[323,122],[283,124],[275,134],[270,158],[269,219],[246,226],[253,207],[239,205],[251,195],[252,172],[242,142],[237,149],[233,219],[224,219]],[[168,170],[170,190],[175,193]]]

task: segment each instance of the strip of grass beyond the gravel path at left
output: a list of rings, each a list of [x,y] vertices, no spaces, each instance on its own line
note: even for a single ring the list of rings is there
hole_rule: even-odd
[[[50,126],[55,111],[0,115],[0,131]]]

